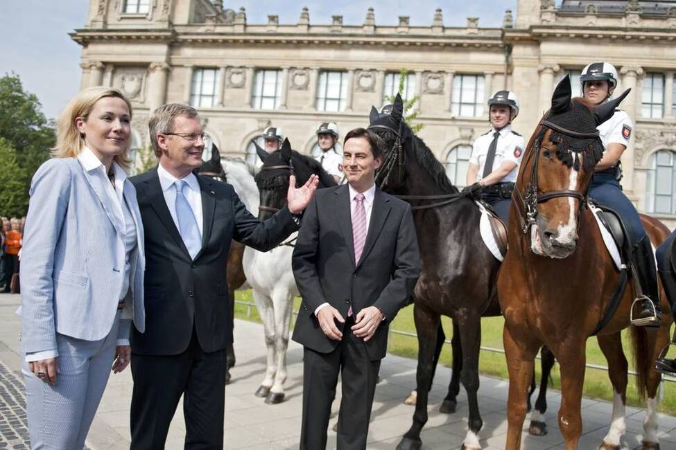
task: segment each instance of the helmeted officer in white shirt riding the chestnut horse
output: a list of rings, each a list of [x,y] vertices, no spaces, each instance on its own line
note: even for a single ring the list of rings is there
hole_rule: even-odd
[[[580,83],[584,98],[595,105],[602,105],[612,96],[617,86],[617,71],[607,62],[594,62],[582,69]],[[629,145],[634,124],[625,111],[618,109],[612,118],[597,129],[604,150],[603,158],[596,165],[596,172],[589,186],[589,197],[618,213],[629,234],[627,238],[632,249],[630,262],[638,278],[634,282],[639,284],[643,293],[638,298],[639,305],[634,309],[632,325],[659,327],[661,310],[652,246],[639,213],[623,194],[619,182],[622,178],[620,157]]]

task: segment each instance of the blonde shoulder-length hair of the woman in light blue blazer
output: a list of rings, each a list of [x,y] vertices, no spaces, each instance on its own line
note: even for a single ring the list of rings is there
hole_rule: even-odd
[[[129,109],[129,116],[132,116],[132,104],[124,94],[112,87],[89,87],[83,89],[73,97],[73,100],[68,102],[68,105],[61,111],[58,120],[56,121],[56,145],[52,149],[52,156],[55,158],[73,158],[78,156],[85,148],[85,138],[75,125],[75,120],[78,117],[87,120],[89,113],[94,109],[94,105],[101,98],[116,97],[121,98],[127,104]],[[128,170],[131,167],[129,160],[129,148],[131,147],[131,136],[127,148],[114,157],[114,161],[118,163],[121,168]]]

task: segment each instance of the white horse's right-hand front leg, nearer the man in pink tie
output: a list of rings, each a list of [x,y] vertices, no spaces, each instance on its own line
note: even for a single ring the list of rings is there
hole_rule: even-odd
[[[278,404],[284,401],[284,383],[286,382],[286,350],[288,348],[288,325],[291,321],[293,295],[286,289],[272,293],[272,305],[275,310],[275,354],[277,373],[275,382],[266,397],[266,403]]]

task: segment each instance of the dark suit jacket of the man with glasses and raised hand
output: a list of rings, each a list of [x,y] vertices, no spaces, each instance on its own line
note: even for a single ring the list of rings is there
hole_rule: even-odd
[[[184,352],[193,327],[202,350],[232,343],[225,267],[230,242],[268,251],[297,230],[286,206],[265,222],[251,215],[232,186],[197,177],[202,190],[202,250],[191,260],[171,218],[157,169],[133,177],[146,232],[146,332],[132,332],[132,352]]]

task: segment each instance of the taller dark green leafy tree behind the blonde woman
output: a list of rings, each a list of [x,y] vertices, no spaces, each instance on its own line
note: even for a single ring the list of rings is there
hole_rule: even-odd
[[[4,176],[12,176],[11,179],[3,178],[1,187],[6,188],[5,183],[11,181],[15,186],[12,195],[21,197],[17,204],[24,205],[24,210],[12,214],[24,215],[31,178],[40,164],[49,159],[49,150],[54,146],[56,136],[53,123],[42,113],[40,100],[24,90],[19,75],[15,73],[0,78],[0,138],[5,139],[9,149],[3,150],[3,165],[6,160],[11,160],[20,169],[10,172],[6,167],[1,168]],[[0,204],[0,210],[5,210],[5,207]]]

